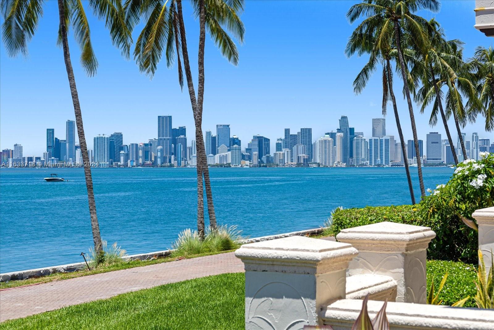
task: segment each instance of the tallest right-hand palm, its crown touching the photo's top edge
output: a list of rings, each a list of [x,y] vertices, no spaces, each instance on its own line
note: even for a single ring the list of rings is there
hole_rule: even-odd
[[[423,31],[426,22],[420,16],[413,14],[422,9],[437,11],[439,9],[438,0],[365,0],[354,4],[347,12],[346,16],[350,23],[355,22],[360,17],[364,17],[359,27],[367,30],[368,33],[375,34],[376,47],[381,43],[386,43],[394,37],[394,44],[397,48],[400,72],[403,78],[405,95],[407,98],[410,121],[412,124],[413,142],[415,155],[417,158],[417,172],[420,192],[425,196],[424,182],[422,178],[422,167],[420,161],[420,150],[418,146],[417,129],[413,115],[412,98],[408,80],[408,68],[404,59],[404,46],[407,43],[402,41],[403,36],[410,39],[419,48],[424,47],[427,40]]]

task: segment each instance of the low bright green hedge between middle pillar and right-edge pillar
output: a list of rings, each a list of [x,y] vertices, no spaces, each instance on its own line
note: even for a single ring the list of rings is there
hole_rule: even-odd
[[[443,305],[453,305],[456,301],[470,296],[465,303],[465,307],[477,307],[472,299],[477,293],[474,280],[477,279],[475,265],[464,264],[462,262],[428,260],[427,261],[427,292],[430,290],[432,277],[434,277],[434,287],[437,290],[443,276],[448,272],[448,279],[444,284],[439,300],[443,300]],[[436,291],[437,292],[437,291]],[[435,293],[436,293],[435,292]]]

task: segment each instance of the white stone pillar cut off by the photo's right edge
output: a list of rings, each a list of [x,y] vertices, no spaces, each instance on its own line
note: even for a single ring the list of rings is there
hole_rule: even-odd
[[[479,250],[484,255],[486,273],[493,265],[491,252],[494,253],[494,207],[488,207],[473,212],[472,217],[479,227]]]

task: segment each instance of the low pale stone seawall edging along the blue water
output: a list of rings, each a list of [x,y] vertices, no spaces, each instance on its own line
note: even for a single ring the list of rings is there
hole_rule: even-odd
[[[264,240],[270,240],[270,239],[276,239],[276,238],[282,238],[282,237],[288,237],[288,236],[305,236],[305,235],[316,235],[320,234],[323,231],[323,228],[315,228],[315,229],[309,229],[309,230],[304,230],[304,231],[298,231],[298,232],[291,232],[291,233],[285,233],[285,234],[278,234],[278,235],[270,235],[270,236],[261,236],[261,237],[255,237],[255,238],[247,238],[243,239],[242,243],[253,243],[253,242],[260,242]],[[128,260],[151,260],[154,258],[158,257],[166,257],[171,254],[173,250],[163,250],[163,251],[156,251],[156,252],[150,252],[150,253],[141,253],[141,254],[132,254],[129,255],[125,258],[126,261]],[[50,275],[50,274],[55,274],[55,273],[71,273],[75,272],[78,270],[81,270],[83,268],[86,268],[86,264],[84,262],[77,262],[74,264],[66,264],[66,265],[58,265],[58,266],[51,266],[51,267],[43,267],[43,268],[35,268],[35,269],[28,269],[24,271],[17,271],[17,272],[10,272],[10,273],[2,273],[0,274],[0,282],[7,282],[11,280],[26,280],[34,276],[45,276],[45,275]]]

